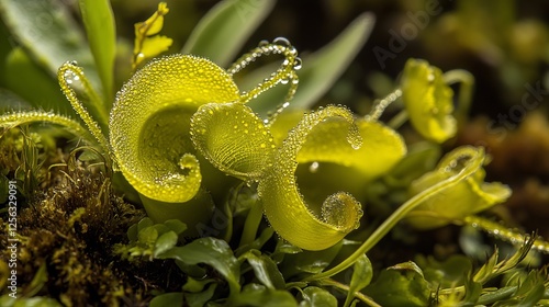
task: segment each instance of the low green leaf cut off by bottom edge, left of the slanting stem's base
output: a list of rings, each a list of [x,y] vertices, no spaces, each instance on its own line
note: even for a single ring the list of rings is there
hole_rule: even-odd
[[[231,306],[298,307],[293,295],[287,291],[269,289],[264,285],[247,284]]]

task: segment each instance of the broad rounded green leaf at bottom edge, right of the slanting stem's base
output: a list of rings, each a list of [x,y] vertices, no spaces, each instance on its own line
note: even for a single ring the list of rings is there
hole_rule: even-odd
[[[410,264],[404,266],[408,269],[382,271],[365,293],[381,306],[428,306],[430,289],[427,281]]]

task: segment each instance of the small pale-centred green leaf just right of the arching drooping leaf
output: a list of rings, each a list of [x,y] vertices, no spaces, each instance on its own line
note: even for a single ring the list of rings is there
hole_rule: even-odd
[[[269,257],[258,250],[250,250],[240,258],[246,259],[254,269],[256,277],[268,288],[284,288],[284,277],[277,264]]]

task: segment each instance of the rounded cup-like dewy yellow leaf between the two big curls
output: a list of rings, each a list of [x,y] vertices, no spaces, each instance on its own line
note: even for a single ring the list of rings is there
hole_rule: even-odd
[[[197,149],[221,171],[254,180],[270,167],[272,136],[251,109],[240,103],[202,105],[191,118]]]

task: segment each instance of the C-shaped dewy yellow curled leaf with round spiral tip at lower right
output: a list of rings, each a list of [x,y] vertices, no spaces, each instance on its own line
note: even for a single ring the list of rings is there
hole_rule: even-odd
[[[346,121],[347,146],[360,148],[362,139],[347,109],[327,106],[307,113],[274,154],[273,167],[266,171],[258,185],[265,214],[272,228],[292,245],[306,250],[323,250],[337,243],[358,228],[362,216],[360,203],[345,192],[328,196],[320,211],[313,212],[313,207],[305,204],[295,182],[298,156],[307,136],[323,121],[333,117]]]

